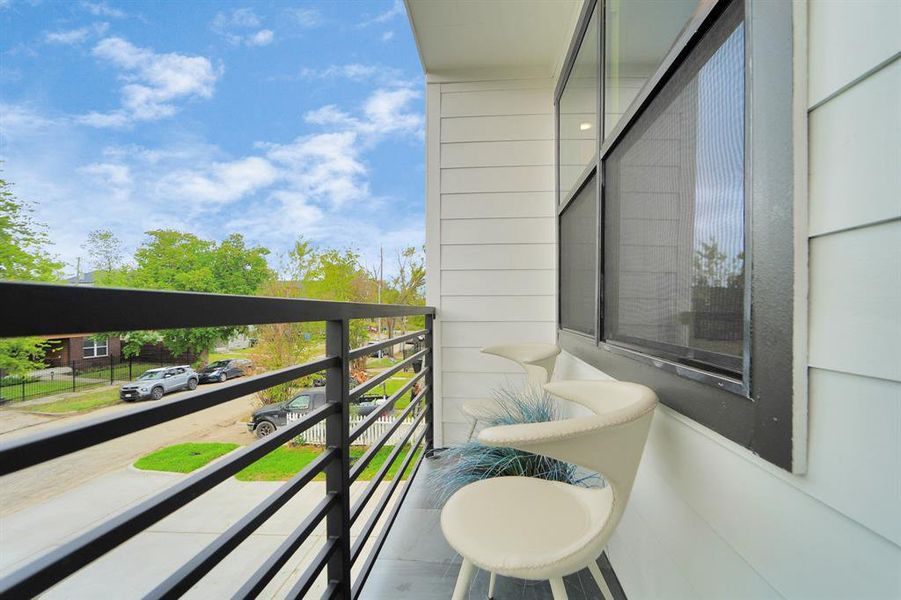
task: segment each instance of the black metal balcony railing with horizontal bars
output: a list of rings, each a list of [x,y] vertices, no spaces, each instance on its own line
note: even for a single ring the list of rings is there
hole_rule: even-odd
[[[59,307],[66,307],[59,310]],[[384,544],[394,519],[401,509],[409,483],[433,446],[432,411],[432,322],[434,309],[424,306],[398,306],[323,302],[248,296],[153,292],[109,288],[51,286],[26,283],[0,283],[0,337],[24,335],[82,335],[105,331],[171,329],[263,325],[289,322],[325,321],[325,357],[262,375],[244,377],[214,389],[198,390],[188,397],[160,401],[130,408],[117,415],[80,422],[42,432],[27,438],[0,444],[0,476],[21,471],[40,463],[119,438],[160,423],[171,421],[212,406],[256,393],[300,377],[325,371],[327,403],[287,427],[253,444],[226,455],[187,476],[178,484],[144,500],[137,506],[93,527],[10,573],[0,580],[0,597],[21,598],[40,594],[92,561],[135,537],[164,517],[222,483],[269,452],[296,438],[315,424],[326,423],[326,449],[301,472],[274,491],[262,503],[234,523],[200,552],[185,562],[153,589],[150,598],[176,598],[191,589],[242,541],[256,531],[318,474],[325,473],[326,492],[308,515],[298,519],[297,527],[259,566],[250,579],[236,590],[237,598],[254,598],[275,577],[291,556],[324,520],[326,541],[307,570],[289,592],[303,597],[323,571],[328,584],[324,597],[356,598],[366,582],[375,559]],[[348,341],[350,319],[376,317],[425,316],[425,329],[404,334],[365,348],[351,349]],[[423,349],[409,355],[377,377],[349,389],[348,365],[374,349],[385,348],[412,339],[424,338]],[[392,374],[423,360],[414,377],[382,406],[350,430],[349,406],[353,398],[386,381]],[[350,460],[350,444],[379,417],[394,409],[397,401],[411,393],[417,382],[421,390],[395,419],[385,434],[355,462]],[[408,417],[413,417],[412,422]],[[400,441],[376,475],[351,506],[350,484],[356,480],[376,453],[397,430],[407,425]],[[416,432],[419,431],[417,434]],[[410,439],[416,436],[412,443]],[[374,497],[391,466],[406,450],[396,475],[379,498],[378,505],[351,544],[351,525]],[[418,458],[417,458],[418,453]],[[412,464],[412,467],[411,467]],[[400,486],[402,475],[410,469],[407,484],[400,492],[385,525],[379,531],[372,550],[363,556],[363,548],[373,535],[379,519]],[[2,485],[0,479],[0,485]],[[351,568],[359,560],[362,566],[352,580]]]

